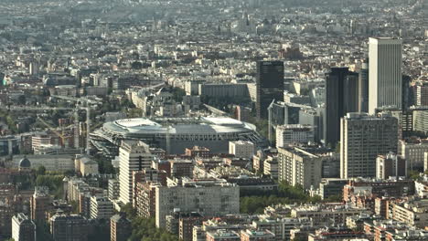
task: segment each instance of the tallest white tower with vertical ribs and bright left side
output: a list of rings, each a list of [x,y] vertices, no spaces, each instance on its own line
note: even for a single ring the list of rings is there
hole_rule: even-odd
[[[401,39],[369,38],[369,113],[382,107],[401,109]]]

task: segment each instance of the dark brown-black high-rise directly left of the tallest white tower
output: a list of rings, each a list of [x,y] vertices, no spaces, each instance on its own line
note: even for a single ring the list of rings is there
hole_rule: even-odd
[[[358,74],[349,68],[331,68],[326,74],[324,141],[336,145],[340,139],[340,118],[358,111]]]

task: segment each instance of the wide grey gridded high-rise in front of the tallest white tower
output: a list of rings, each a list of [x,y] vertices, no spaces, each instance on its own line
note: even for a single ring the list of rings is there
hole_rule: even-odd
[[[398,121],[391,115],[348,113],[340,121],[340,177],[375,177],[376,158],[397,152]]]

